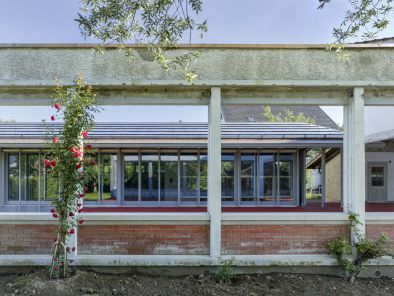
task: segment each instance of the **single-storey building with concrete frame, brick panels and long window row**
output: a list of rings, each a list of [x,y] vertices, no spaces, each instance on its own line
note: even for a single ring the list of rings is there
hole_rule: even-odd
[[[64,85],[72,85],[74,77],[81,72],[93,85],[99,104],[206,105],[209,118],[207,125],[197,129],[192,126],[185,130],[187,124],[167,127],[172,135],[170,140],[133,137],[138,129],[144,129],[141,125],[127,127],[131,132],[126,132],[124,137],[119,134],[118,138],[96,138],[94,143],[102,149],[100,161],[111,171],[116,162],[118,174],[114,176],[107,170],[108,178],[103,176],[98,185],[91,186],[97,187],[91,195],[95,204],[83,214],[86,224],[73,237],[74,264],[217,265],[220,259],[234,258],[240,266],[330,266],[336,261],[326,254],[324,245],[339,235],[351,235],[347,227],[350,212],[360,216],[360,232],[370,236],[386,233],[393,247],[392,207],[383,204],[379,208],[367,207],[366,211],[364,148],[364,106],[394,105],[394,69],[387,62],[394,59],[391,45],[349,45],[351,59],[347,63],[339,62],[335,54],[320,45],[196,45],[191,48],[201,53],[195,65],[199,79],[192,84],[176,74],[163,72],[143,47],[135,48],[137,57],[130,64],[115,48],[97,56],[92,54],[91,47],[2,45],[0,105],[48,105],[53,78],[59,77]],[[271,130],[277,129],[277,124],[270,126],[253,120],[243,124],[222,123],[223,116],[226,117],[222,106],[227,105],[341,105],[344,106],[343,138],[338,131],[324,126],[284,124],[286,128],[278,132]],[[97,129],[100,128],[108,131],[108,127],[98,125]],[[114,126],[109,127],[110,131],[113,129]],[[122,126],[116,129],[121,131]],[[313,132],[309,133],[311,129]],[[40,189],[38,195],[40,201],[44,198],[43,204],[22,204],[28,196],[22,191],[21,184],[26,179],[22,164],[29,163],[28,149],[41,148],[39,130],[39,126],[30,129],[29,125],[16,124],[1,140],[2,265],[50,261],[54,221],[46,211],[32,212],[33,207],[45,210],[45,189]],[[145,127],[140,134],[149,134],[147,130],[154,128]],[[179,138],[173,136],[177,131]],[[193,138],[188,137],[191,134]],[[174,140],[186,146],[180,143],[174,146]],[[321,206],[308,207],[303,202],[301,171],[305,167],[289,165],[289,159],[304,163],[305,154],[300,151],[310,147],[321,149],[323,173],[327,169],[324,151],[328,148],[343,151],[338,206],[325,204],[326,184],[322,188]],[[187,154],[186,148],[192,152]],[[142,149],[150,152],[145,154]],[[260,197],[265,198],[264,195],[254,192],[259,193],[261,189],[264,192],[266,187],[260,185],[266,183],[255,182],[253,190],[248,186],[252,179],[261,176],[269,179],[258,166],[267,154],[274,158],[272,171],[279,171],[276,175],[279,179],[275,179],[278,187],[272,187],[276,195],[262,200]],[[40,154],[35,155],[39,159]],[[257,169],[252,175],[253,159]],[[194,162],[191,167],[200,167],[194,176],[184,173],[189,162]],[[224,169],[223,162],[226,162]],[[292,169],[281,168],[283,162],[286,162],[284,167]],[[16,170],[18,165],[21,169]],[[206,186],[205,173],[201,174],[204,166]],[[226,173],[232,166],[234,176],[239,174],[233,180]],[[165,174],[167,169],[176,171],[177,178]],[[18,185],[9,181],[10,175],[18,180]],[[38,175],[42,176],[41,170]],[[280,180],[280,176],[284,179]],[[196,177],[198,187],[193,185]],[[188,179],[194,181],[188,183]],[[40,185],[41,182],[47,181],[44,178]],[[282,185],[289,192],[286,184],[293,184],[291,193],[281,196]],[[247,190],[242,191],[242,186]],[[253,196],[243,196],[250,192]],[[5,201],[10,196],[12,204],[8,205]],[[162,205],[162,201],[168,204]],[[88,204],[86,208],[89,209]],[[380,263],[394,262],[386,258]]]

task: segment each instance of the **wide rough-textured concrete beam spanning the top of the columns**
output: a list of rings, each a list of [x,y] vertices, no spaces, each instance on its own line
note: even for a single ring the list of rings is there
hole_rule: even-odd
[[[181,51],[182,49],[179,49]],[[343,63],[324,48],[201,48],[194,68],[196,84],[242,82],[264,85],[267,80],[330,81],[394,84],[394,48],[350,48]],[[59,77],[71,83],[83,73],[93,85],[187,84],[180,75],[165,73],[145,52],[126,61],[124,54],[109,49],[95,54],[90,48],[0,47],[0,86],[53,85]]]

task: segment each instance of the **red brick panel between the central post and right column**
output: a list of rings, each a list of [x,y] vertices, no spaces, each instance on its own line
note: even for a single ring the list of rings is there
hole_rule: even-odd
[[[223,225],[222,254],[324,254],[346,225]]]

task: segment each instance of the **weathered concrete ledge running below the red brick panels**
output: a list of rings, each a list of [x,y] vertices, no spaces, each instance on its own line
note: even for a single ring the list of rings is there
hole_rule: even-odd
[[[219,259],[204,255],[78,255],[74,266],[218,266],[232,260],[234,266],[336,266],[329,255],[224,255]],[[49,255],[0,255],[0,266],[45,266]],[[389,257],[370,260],[367,266],[394,266]]]

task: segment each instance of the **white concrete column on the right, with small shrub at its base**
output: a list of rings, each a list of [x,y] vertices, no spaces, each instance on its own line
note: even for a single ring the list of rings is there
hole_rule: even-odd
[[[352,241],[358,232],[365,235],[365,141],[364,88],[355,87],[345,108],[344,137],[344,210],[359,216],[362,225],[352,230]]]

